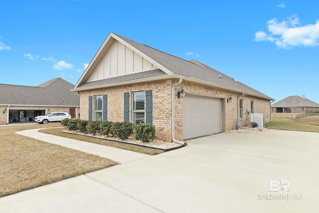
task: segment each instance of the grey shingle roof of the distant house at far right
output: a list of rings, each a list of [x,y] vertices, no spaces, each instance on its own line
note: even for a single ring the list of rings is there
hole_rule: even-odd
[[[295,96],[289,96],[287,98],[284,98],[281,101],[278,101],[277,103],[274,103],[271,105],[271,107],[319,107],[319,104],[317,104],[314,101],[311,101],[307,98],[302,98],[298,95]]]

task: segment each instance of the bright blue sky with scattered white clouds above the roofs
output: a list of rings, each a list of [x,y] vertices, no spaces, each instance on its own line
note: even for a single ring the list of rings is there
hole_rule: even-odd
[[[76,84],[109,32],[319,103],[319,1],[0,0],[0,83]]]

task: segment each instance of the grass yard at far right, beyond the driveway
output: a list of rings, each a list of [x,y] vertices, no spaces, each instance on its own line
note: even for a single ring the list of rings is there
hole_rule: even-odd
[[[319,132],[319,116],[298,119],[272,118],[272,122],[266,123],[265,125],[268,129]]]

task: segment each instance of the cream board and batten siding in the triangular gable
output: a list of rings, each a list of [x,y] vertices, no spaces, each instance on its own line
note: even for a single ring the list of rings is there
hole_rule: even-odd
[[[88,82],[158,69],[154,64],[119,41],[115,41]]]

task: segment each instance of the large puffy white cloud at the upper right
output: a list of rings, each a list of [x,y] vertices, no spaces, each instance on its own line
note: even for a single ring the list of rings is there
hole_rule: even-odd
[[[319,20],[315,24],[303,26],[298,16],[292,15],[281,22],[273,18],[267,22],[267,27],[269,34],[264,31],[256,32],[256,41],[270,41],[280,48],[319,45]]]

